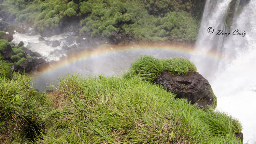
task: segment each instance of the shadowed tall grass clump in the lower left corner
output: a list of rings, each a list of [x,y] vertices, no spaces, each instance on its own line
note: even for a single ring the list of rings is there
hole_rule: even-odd
[[[38,119],[44,109],[44,94],[30,86],[29,77],[15,73],[12,79],[8,76],[0,76],[0,142],[31,142],[42,127]]]

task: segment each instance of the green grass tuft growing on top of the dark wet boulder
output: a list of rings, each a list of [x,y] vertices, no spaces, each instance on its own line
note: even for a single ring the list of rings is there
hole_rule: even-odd
[[[146,81],[153,82],[163,71],[183,76],[188,72],[196,72],[197,68],[193,62],[185,58],[156,59],[145,55],[131,64],[129,71],[124,74],[124,77],[138,76]]]

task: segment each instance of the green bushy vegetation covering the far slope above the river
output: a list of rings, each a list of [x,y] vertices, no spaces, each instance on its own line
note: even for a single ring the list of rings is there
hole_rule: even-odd
[[[194,42],[204,0],[3,0],[0,10],[39,32],[79,21],[80,34],[111,37],[132,33],[139,40]]]

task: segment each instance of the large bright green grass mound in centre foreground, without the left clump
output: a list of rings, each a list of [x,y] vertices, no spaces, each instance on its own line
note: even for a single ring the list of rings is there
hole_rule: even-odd
[[[47,125],[38,143],[238,143],[236,127],[218,134],[232,125],[232,117],[224,113],[228,120],[215,130],[204,120],[214,111],[175,100],[173,93],[138,77],[68,75],[55,88],[47,96],[54,102],[51,110],[41,114],[40,122]]]

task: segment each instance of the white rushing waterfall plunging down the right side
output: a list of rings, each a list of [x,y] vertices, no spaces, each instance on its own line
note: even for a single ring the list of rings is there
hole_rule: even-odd
[[[196,42],[196,51],[215,53],[220,60],[192,57],[199,73],[207,77],[217,108],[238,118],[243,125],[244,143],[256,142],[256,1],[207,0]],[[231,4],[233,8],[231,9]],[[230,14],[232,17],[230,18]],[[229,19],[227,19],[227,17]],[[228,22],[228,23],[227,23]],[[208,28],[214,30],[208,32]],[[228,27],[228,28],[227,28]],[[219,33],[223,31],[223,35]],[[213,31],[213,33],[211,33]],[[228,34],[229,33],[229,34]]]

